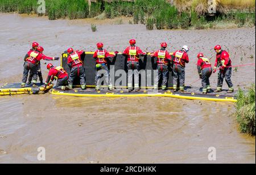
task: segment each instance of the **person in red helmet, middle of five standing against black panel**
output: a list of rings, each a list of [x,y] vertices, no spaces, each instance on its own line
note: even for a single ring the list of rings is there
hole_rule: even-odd
[[[127,56],[127,69],[128,69],[128,89],[129,92],[133,91],[133,74],[134,74],[134,89],[139,91],[139,56],[146,56],[146,52],[135,46],[136,41],[131,39],[129,41],[130,46],[128,46],[125,51],[123,51],[123,56]]]

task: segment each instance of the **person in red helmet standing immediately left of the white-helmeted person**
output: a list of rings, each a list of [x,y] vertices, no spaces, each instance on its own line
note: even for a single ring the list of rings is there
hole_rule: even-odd
[[[162,42],[161,49],[150,54],[151,58],[155,58],[155,57],[157,58],[156,63],[158,65],[156,67],[156,70],[158,70],[158,76],[156,76],[155,78],[154,90],[158,90],[158,82],[161,76],[163,76],[162,90],[166,90],[168,74],[169,74],[168,62],[171,61],[171,56],[166,50],[166,48],[167,48],[167,43]]]

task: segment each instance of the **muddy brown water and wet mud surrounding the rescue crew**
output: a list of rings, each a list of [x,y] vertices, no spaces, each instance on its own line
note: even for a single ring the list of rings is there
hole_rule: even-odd
[[[147,51],[162,41],[170,52],[186,44],[186,84],[198,78],[197,53],[213,63],[216,44],[230,52],[233,65],[255,63],[255,28],[146,31],[144,25],[102,23],[92,32],[88,20],[0,14],[0,21],[0,84],[20,82],[32,41],[48,56],[60,56],[69,46],[91,51],[97,41],[122,51],[131,37]],[[210,79],[213,87],[216,79]],[[255,67],[238,67],[232,79],[235,88],[255,83]],[[240,133],[233,103],[46,94],[1,96],[0,109],[0,163],[42,163],[38,147],[46,149],[45,163],[255,163],[255,137]],[[208,160],[209,147],[216,148],[216,161]]]

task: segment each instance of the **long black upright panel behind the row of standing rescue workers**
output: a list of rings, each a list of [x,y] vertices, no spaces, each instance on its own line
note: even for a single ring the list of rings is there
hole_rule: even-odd
[[[63,53],[61,55],[61,65],[62,67],[68,72],[70,72],[70,68],[68,67],[67,64],[67,57],[68,57],[68,53]],[[86,85],[90,85],[90,86],[94,86],[95,85],[95,66],[96,66],[96,62],[95,59],[93,58],[93,53],[86,53],[85,55],[82,56],[82,58],[84,58],[84,67],[85,67],[85,72],[86,72]],[[127,72],[127,58],[125,56],[123,56],[122,54],[117,54],[117,57],[114,57],[112,59],[110,59],[108,66],[112,67],[112,70],[110,70],[110,76],[115,74],[117,72],[117,70],[124,70],[125,72]],[[145,74],[142,75],[140,74],[140,86],[146,86],[146,84],[149,84],[149,87],[153,87],[154,86],[154,71],[156,69],[156,58],[152,59],[150,57],[150,55],[141,57],[141,59],[139,60],[139,65],[140,65],[140,69],[144,70]],[[170,65],[170,64],[169,64]],[[114,67],[113,67],[114,66]],[[114,70],[113,70],[114,69]],[[151,71],[151,78],[144,78],[144,80],[146,80],[146,83],[142,83],[141,84],[141,76],[146,76],[148,75],[147,71]],[[141,71],[143,72],[143,71]],[[146,73],[147,72],[147,73]],[[103,76],[103,74],[102,74]],[[115,74],[115,78],[114,80],[112,79],[112,84],[114,85],[115,80],[117,80],[118,78],[120,78],[121,75],[117,75]],[[113,77],[113,76],[111,76]],[[151,80],[151,83],[150,83]],[[74,85],[79,85],[79,79],[76,79],[74,82]],[[159,80],[159,87],[162,84],[162,80]],[[115,84],[115,86],[121,86],[121,84]],[[125,86],[127,86],[127,76],[126,76],[126,82],[125,82]],[[169,77],[168,77],[168,87],[172,87],[173,86],[173,78],[172,78],[172,69],[169,66]]]

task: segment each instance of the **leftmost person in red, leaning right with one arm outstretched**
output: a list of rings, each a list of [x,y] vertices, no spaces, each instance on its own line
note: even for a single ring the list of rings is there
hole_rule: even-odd
[[[44,48],[42,46],[38,46],[36,50],[30,50],[24,57],[24,71],[23,71],[23,78],[22,78],[22,84],[21,87],[25,87],[25,84],[27,82],[27,76],[28,72],[31,71],[32,76],[32,83],[33,87],[36,86],[36,82],[38,79],[38,69],[37,69],[37,63],[40,62],[41,59],[44,60],[58,60],[59,57],[47,57],[43,54]]]

